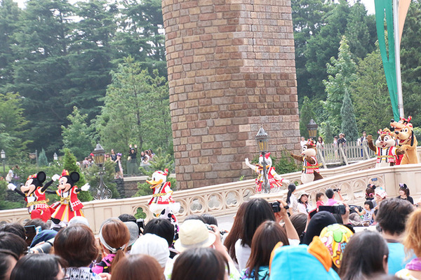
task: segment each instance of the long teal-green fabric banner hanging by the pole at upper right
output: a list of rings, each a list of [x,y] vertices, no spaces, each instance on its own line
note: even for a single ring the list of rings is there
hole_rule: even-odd
[[[380,54],[382,55],[383,68],[385,69],[387,88],[389,88],[390,101],[392,102],[393,116],[394,119],[399,120],[392,0],[374,0],[374,4],[377,39],[379,40]],[[385,30],[385,18],[387,32]],[[386,48],[386,34],[389,48]],[[387,56],[387,54],[389,54],[389,57]]]

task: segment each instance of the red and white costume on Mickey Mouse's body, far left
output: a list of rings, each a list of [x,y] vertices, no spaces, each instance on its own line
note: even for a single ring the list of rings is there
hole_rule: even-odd
[[[44,222],[50,220],[50,206],[47,205],[48,199],[46,199],[46,193],[41,192],[41,187],[37,187],[32,194],[25,196],[25,201],[27,201],[31,219],[41,219]]]

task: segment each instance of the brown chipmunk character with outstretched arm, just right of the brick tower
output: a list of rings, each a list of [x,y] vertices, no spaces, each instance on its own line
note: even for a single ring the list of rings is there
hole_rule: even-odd
[[[303,184],[323,179],[323,176],[319,173],[316,154],[316,143],[312,139],[307,140],[307,143],[302,146],[301,155],[290,153],[290,156],[294,159],[302,161],[301,182]]]

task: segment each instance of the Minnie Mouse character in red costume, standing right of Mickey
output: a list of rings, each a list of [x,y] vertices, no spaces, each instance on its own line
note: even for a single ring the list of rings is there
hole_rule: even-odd
[[[51,220],[53,221],[52,228],[67,225],[69,220],[75,216],[83,217],[81,211],[83,204],[77,198],[77,194],[81,191],[87,191],[90,186],[89,184],[85,184],[78,189],[74,184],[79,181],[79,178],[80,175],[77,172],[69,174],[67,170],[62,171],[62,175],[58,180],[58,190],[56,191],[56,194],[60,196],[60,201],[55,202],[51,206],[54,209],[54,213],[51,215]]]

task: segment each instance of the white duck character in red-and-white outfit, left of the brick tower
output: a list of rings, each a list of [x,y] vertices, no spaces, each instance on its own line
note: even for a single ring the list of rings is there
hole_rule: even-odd
[[[180,203],[174,202],[173,190],[171,189],[171,182],[166,181],[168,175],[168,169],[164,171],[155,171],[152,174],[152,180],[146,182],[151,185],[151,189],[154,189],[152,199],[149,200],[149,209],[154,213],[156,217],[161,215],[162,211],[169,207],[173,213],[180,211]]]

